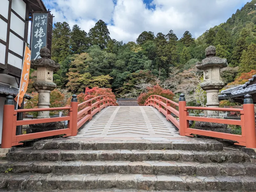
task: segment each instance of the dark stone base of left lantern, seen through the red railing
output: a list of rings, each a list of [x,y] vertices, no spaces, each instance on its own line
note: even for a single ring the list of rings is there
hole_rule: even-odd
[[[58,129],[64,129],[64,124],[60,122],[52,122],[52,123],[39,123],[39,124],[31,124],[30,128],[27,129],[27,133],[37,133],[43,131],[53,131]]]

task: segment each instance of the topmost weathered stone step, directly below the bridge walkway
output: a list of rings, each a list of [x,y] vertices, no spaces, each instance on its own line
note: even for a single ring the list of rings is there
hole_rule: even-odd
[[[195,150],[221,151],[223,144],[215,140],[180,138],[171,141],[81,141],[77,138],[70,140],[42,140],[35,142],[34,149],[68,149],[68,150]]]

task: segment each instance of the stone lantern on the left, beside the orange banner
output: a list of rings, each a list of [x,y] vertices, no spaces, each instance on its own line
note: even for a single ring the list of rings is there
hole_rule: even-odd
[[[37,70],[36,82],[33,83],[33,87],[38,92],[38,108],[50,107],[50,93],[56,88],[56,84],[53,83],[53,72],[58,71],[60,68],[59,63],[55,63],[50,59],[50,50],[46,47],[41,48],[39,59],[31,61],[31,68]],[[50,118],[49,111],[38,112],[38,119]],[[29,132],[49,131],[54,130],[56,123],[41,123],[31,125]],[[40,128],[40,129],[38,129]],[[58,128],[59,129],[59,128]]]

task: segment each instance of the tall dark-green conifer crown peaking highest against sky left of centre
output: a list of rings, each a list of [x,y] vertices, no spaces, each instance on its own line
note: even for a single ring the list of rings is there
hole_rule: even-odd
[[[105,49],[108,41],[111,39],[109,34],[107,24],[104,21],[99,20],[88,33],[90,44],[98,45],[101,49]]]

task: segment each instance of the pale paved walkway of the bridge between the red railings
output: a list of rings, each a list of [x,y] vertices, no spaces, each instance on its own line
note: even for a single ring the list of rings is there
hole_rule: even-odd
[[[110,106],[85,123],[75,137],[182,137],[150,106]]]

